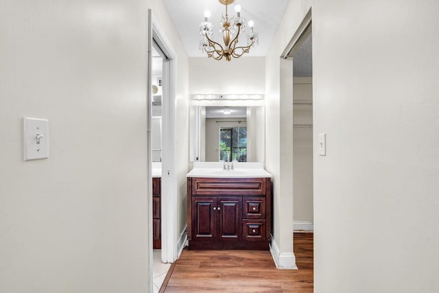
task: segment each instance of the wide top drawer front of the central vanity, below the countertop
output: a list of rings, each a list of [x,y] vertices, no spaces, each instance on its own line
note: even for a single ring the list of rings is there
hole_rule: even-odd
[[[192,195],[265,196],[266,178],[193,178]]]

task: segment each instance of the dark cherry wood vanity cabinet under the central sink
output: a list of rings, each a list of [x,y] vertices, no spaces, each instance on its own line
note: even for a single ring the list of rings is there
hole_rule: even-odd
[[[268,250],[270,178],[188,178],[189,249]]]

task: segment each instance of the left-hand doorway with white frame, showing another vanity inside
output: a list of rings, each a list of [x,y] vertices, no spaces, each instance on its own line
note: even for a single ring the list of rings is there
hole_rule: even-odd
[[[176,260],[177,187],[174,174],[174,56],[165,35],[148,13],[148,158],[150,204],[149,267],[150,292]],[[160,180],[154,180],[154,179]],[[158,186],[159,185],[159,186]],[[155,206],[155,213],[153,207]],[[155,240],[155,241],[154,241]],[[159,250],[153,249],[153,247]],[[156,266],[154,266],[154,257]],[[156,277],[156,278],[154,278]],[[157,278],[160,277],[160,278]],[[164,276],[163,276],[164,277]]]

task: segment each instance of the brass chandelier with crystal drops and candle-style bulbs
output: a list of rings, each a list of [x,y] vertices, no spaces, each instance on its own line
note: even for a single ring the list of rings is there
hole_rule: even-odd
[[[219,3],[226,5],[226,15],[222,15],[220,32],[222,32],[222,40],[224,42],[224,47],[219,43],[213,41],[212,37],[212,23],[209,22],[209,17],[211,12],[206,10],[204,12],[204,21],[200,23],[200,50],[207,53],[209,58],[215,60],[221,60],[223,57],[227,61],[233,58],[239,58],[250,51],[250,47],[254,43],[259,44],[258,34],[253,32],[254,22],[249,21],[248,26],[250,27],[250,33],[247,34],[247,46],[237,46],[239,34],[246,31],[246,19],[241,17],[241,5],[235,5],[236,16],[228,18],[228,5],[235,2],[235,0],[219,0]],[[235,37],[232,39],[233,34]]]

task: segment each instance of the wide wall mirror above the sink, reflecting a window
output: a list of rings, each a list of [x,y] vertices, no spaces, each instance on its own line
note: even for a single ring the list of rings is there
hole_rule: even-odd
[[[190,160],[263,162],[263,106],[191,106]]]

